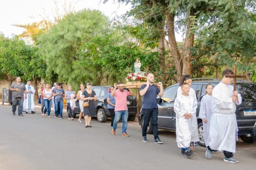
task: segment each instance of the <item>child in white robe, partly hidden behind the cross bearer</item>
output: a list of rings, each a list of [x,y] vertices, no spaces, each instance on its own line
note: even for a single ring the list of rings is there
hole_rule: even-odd
[[[199,118],[203,121],[203,129],[204,129],[204,144],[207,147],[209,144],[209,131],[211,124],[211,116],[212,116],[212,90],[213,85],[207,84],[205,86],[205,95],[201,99],[201,106],[199,112]],[[213,153],[218,153],[218,150],[214,150]]]

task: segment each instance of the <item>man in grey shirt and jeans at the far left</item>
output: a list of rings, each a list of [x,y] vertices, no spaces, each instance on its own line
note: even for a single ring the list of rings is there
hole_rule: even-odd
[[[21,83],[21,78],[17,77],[16,83],[13,83],[10,87],[10,90],[12,91],[12,111],[13,115],[15,115],[17,105],[18,105],[18,114],[19,116],[23,116],[23,101],[24,97],[27,98],[27,90],[26,86]]]

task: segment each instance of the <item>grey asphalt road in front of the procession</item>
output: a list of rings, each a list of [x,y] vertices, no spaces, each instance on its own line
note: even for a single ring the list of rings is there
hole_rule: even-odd
[[[128,122],[129,138],[111,135],[110,120],[93,119],[92,128],[84,123],[41,117],[36,114],[13,116],[10,106],[0,106],[0,170],[253,170],[256,147],[237,142],[237,164],[223,161],[223,153],[205,158],[198,146],[191,159],[180,154],[175,133],[159,130],[164,144],[142,142],[138,122]]]

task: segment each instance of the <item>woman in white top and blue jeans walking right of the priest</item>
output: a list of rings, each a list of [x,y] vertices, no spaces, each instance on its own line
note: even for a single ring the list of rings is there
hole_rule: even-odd
[[[44,112],[42,113],[42,117],[44,117],[46,114],[46,111],[48,111],[48,114],[47,114],[47,117],[48,118],[51,118],[50,117],[50,113],[51,113],[51,106],[52,106],[52,96],[53,96],[53,93],[52,93],[52,89],[50,89],[50,84],[49,83],[46,83],[45,85],[45,89],[43,90],[42,92],[43,96],[44,96],[44,104],[45,104],[45,110]]]

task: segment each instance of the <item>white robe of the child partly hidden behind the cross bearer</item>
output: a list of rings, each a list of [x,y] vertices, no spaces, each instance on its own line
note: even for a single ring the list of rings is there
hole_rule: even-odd
[[[199,118],[202,120],[207,119],[207,123],[203,122],[205,146],[208,146],[209,144],[209,131],[210,131],[210,124],[211,124],[211,116],[213,114],[211,110],[211,104],[212,104],[212,96],[208,94],[204,95],[203,98],[201,99]]]

